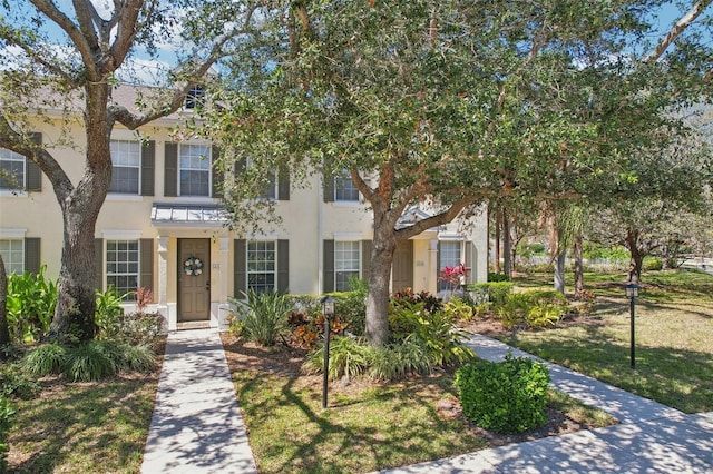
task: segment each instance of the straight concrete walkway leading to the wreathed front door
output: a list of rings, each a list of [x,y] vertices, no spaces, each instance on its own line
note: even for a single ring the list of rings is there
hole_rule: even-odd
[[[141,472],[257,472],[217,330],[168,335]]]

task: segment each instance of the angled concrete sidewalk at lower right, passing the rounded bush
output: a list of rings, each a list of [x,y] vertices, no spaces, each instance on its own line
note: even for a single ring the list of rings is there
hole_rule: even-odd
[[[469,346],[488,361],[501,361],[510,349],[480,335],[472,336]],[[521,350],[511,350],[514,356],[538,359]],[[550,369],[553,387],[609,413],[622,423],[381,473],[713,473],[713,412],[685,415],[545,363]]]

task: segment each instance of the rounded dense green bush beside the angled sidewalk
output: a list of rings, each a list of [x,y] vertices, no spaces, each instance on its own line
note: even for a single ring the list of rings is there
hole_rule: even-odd
[[[456,373],[463,416],[496,433],[521,433],[541,426],[549,371],[508,354],[502,363],[476,361]]]

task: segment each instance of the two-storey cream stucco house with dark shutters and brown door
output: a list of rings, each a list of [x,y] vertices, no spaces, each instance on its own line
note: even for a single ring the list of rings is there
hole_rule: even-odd
[[[115,90],[114,100],[134,103],[135,88]],[[47,110],[36,138],[77,180],[84,169],[84,129]],[[274,233],[240,236],[228,230],[221,211],[218,176],[211,144],[170,134],[192,110],[153,122],[136,132],[116,128],[111,136],[114,179],[97,221],[96,285],[121,292],[141,286],[154,293],[154,307],[169,329],[182,323],[223,326],[228,298],[248,287],[292,294],[346,289],[351,276],[367,277],[372,216],[349,179],[315,176],[309,189],[291,189],[275,179],[265,198],[274,199],[283,226]],[[60,130],[75,137],[62,146]],[[207,159],[205,159],[207,157]],[[0,149],[0,167],[13,172],[21,190],[0,180],[0,253],[8,271],[36,271],[47,265],[59,273],[62,221],[49,180],[25,157]],[[316,181],[320,182],[316,182]],[[428,215],[411,209],[402,225]],[[392,288],[439,290],[438,271],[465,263],[469,280],[487,278],[485,216],[473,225],[430,229],[401,245],[392,269]],[[461,231],[459,229],[468,229]],[[130,303],[127,303],[130,305]]]

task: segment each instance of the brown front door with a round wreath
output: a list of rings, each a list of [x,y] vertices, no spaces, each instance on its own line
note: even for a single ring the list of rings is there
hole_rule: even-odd
[[[211,319],[211,239],[178,240],[178,322]]]

